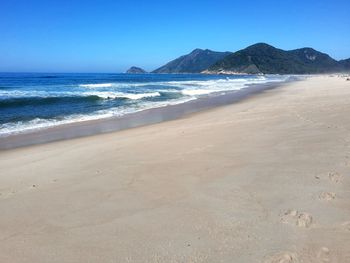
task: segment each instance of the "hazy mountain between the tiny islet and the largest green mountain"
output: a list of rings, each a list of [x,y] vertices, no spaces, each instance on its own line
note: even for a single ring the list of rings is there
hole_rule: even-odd
[[[231,53],[195,49],[154,70],[153,73],[200,73],[229,54]]]

